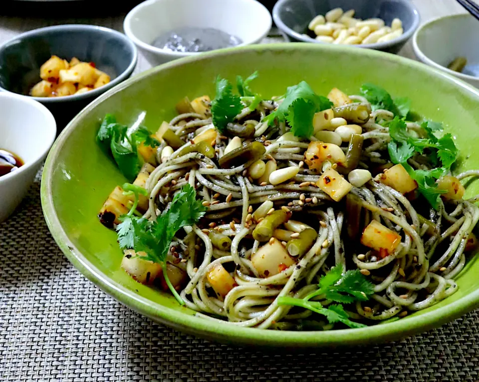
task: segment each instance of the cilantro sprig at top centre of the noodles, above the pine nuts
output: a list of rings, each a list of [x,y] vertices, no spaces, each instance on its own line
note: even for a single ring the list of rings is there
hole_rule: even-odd
[[[326,97],[318,96],[311,87],[301,81],[299,84],[290,86],[282,97],[282,103],[263,122],[273,125],[274,121],[287,121],[295,136],[309,138],[314,132],[313,116],[332,107],[331,101]]]

